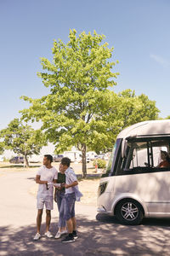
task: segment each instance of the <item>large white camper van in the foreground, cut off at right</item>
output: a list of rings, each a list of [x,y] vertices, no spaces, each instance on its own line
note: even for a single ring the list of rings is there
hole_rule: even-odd
[[[122,224],[170,217],[170,164],[159,165],[161,150],[170,153],[170,119],[124,129],[100,179],[98,212],[116,215]]]

